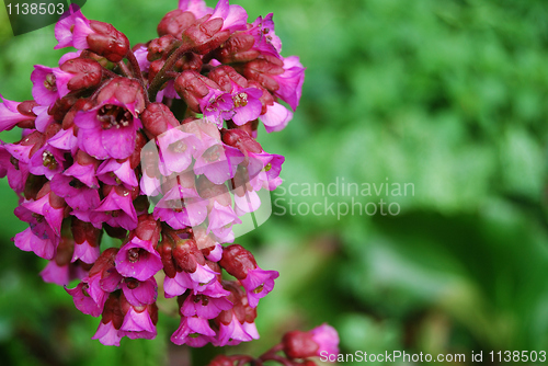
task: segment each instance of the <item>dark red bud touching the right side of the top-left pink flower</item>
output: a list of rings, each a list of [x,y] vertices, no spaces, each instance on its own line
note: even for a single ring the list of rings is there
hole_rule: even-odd
[[[112,62],[122,61],[129,50],[126,35],[109,23],[90,21],[90,27],[94,31],[85,38],[90,49]]]

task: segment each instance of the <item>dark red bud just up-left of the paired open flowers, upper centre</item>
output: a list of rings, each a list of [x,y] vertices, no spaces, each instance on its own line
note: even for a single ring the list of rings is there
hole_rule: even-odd
[[[210,89],[219,89],[215,81],[203,75],[186,70],[175,79],[175,90],[178,94],[186,102],[189,107],[199,113],[199,100],[205,98]]]

